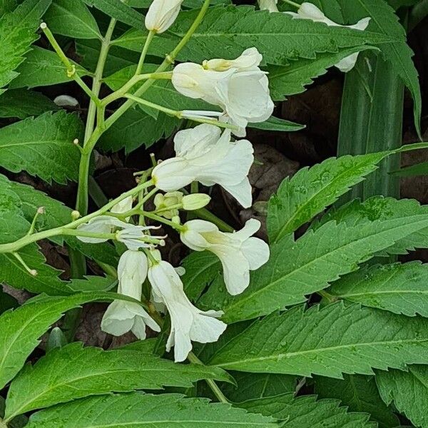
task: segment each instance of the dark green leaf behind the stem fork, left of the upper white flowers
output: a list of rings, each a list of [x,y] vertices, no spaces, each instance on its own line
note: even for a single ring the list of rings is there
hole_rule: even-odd
[[[141,108],[132,108],[124,113],[100,139],[104,151],[119,151],[125,148],[131,153],[140,146],[150,147],[163,137],[170,136],[180,121],[159,113],[154,119]]]

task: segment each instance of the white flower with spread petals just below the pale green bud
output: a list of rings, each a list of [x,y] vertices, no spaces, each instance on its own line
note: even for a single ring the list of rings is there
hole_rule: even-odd
[[[208,250],[220,258],[225,285],[231,295],[238,295],[250,283],[250,270],[256,270],[269,260],[269,246],[254,238],[260,221],[250,219],[243,229],[224,233],[213,223],[190,220],[180,233],[182,242],[195,251]]]

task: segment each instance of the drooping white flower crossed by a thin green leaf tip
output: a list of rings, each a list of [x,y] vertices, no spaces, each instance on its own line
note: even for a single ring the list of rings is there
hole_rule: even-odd
[[[128,250],[118,264],[118,293],[141,300],[141,287],[147,277],[148,263],[144,253]],[[146,325],[159,332],[160,327],[138,303],[115,300],[108,306],[101,330],[114,336],[133,332],[138,339],[146,339]]]

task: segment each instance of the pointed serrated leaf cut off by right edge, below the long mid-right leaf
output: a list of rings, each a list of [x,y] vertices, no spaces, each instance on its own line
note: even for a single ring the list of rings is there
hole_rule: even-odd
[[[338,299],[389,310],[409,317],[428,317],[428,265],[421,262],[363,267],[330,287]]]

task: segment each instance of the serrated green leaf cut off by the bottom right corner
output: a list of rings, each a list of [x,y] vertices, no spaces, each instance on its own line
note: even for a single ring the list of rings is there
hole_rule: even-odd
[[[377,387],[386,404],[394,402],[417,427],[428,427],[428,366],[412,365],[407,372],[377,372]]]

